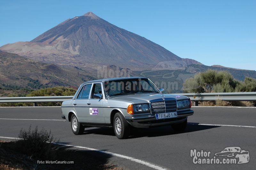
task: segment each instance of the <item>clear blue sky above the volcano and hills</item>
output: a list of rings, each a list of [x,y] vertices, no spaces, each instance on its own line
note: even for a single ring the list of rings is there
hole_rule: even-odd
[[[181,58],[256,70],[255,0],[0,0],[0,46],[90,11]]]

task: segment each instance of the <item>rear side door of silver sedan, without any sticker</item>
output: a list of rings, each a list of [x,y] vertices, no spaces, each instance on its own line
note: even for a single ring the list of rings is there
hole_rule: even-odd
[[[90,97],[90,92],[92,88],[91,84],[85,84],[80,92],[78,93],[73,105],[76,110],[77,118],[79,122],[89,122],[88,120],[88,100]]]

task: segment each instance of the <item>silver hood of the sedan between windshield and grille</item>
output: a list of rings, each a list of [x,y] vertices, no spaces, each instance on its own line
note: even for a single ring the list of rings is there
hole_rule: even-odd
[[[111,97],[109,99],[116,99],[116,100],[124,100],[124,101],[130,101],[134,104],[140,104],[140,103],[148,103],[151,100],[155,99],[166,99],[166,98],[173,98],[176,100],[183,100],[188,99],[186,96],[179,96],[175,94],[162,94],[162,93],[135,93],[135,94],[125,94],[118,97]]]

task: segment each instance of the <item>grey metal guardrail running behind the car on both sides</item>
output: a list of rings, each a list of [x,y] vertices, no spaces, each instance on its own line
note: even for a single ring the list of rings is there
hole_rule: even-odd
[[[195,105],[199,101],[256,101],[256,92],[236,92],[236,93],[175,93],[174,95],[188,96]],[[73,96],[39,96],[39,97],[0,97],[0,103],[23,103],[31,102],[63,102],[72,99]]]

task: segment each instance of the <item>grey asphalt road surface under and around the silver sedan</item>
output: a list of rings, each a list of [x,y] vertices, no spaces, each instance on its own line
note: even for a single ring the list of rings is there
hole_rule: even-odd
[[[185,132],[174,132],[170,126],[134,128],[128,139],[120,140],[111,128],[85,128],[84,135],[74,135],[70,122],[62,120],[60,107],[0,107],[0,139],[17,138],[21,128],[28,130],[31,125],[32,129],[51,130],[61,143],[105,151],[88,152],[104,155],[106,162],[124,169],[255,169],[256,108],[192,110],[195,113],[188,118]],[[231,164],[228,158],[233,157],[214,156],[226,147],[249,151],[250,161]],[[208,162],[200,164],[201,160]]]

